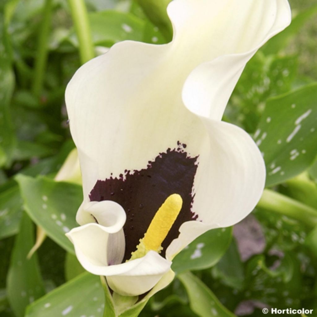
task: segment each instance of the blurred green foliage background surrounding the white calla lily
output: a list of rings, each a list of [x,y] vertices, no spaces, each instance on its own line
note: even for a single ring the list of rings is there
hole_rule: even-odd
[[[81,186],[54,180],[74,148],[64,93],[81,58],[68,2],[48,2],[0,2],[0,316],[102,316],[99,279],[80,275],[64,236],[76,226]],[[254,136],[268,195],[277,193],[283,207],[260,202],[233,229],[199,237],[175,259],[178,277],[140,316],[258,316],[267,306],[317,315],[317,2],[290,3],[291,26],[249,62],[224,116]],[[86,5],[96,55],[126,39],[168,39],[137,2]],[[309,109],[296,138],[277,146]],[[48,237],[28,260],[32,223]],[[197,246],[202,256],[193,258]]]

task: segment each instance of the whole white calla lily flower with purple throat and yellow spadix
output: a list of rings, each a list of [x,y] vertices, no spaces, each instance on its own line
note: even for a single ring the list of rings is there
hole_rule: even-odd
[[[167,11],[170,43],[117,43],[66,90],[84,193],[68,237],[122,295],[152,289],[181,249],[260,199],[261,153],[221,118],[245,64],[291,17],[287,0],[174,0]]]

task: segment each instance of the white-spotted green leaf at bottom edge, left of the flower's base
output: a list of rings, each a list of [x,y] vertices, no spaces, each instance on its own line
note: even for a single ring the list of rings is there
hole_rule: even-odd
[[[104,293],[100,277],[83,273],[32,303],[25,317],[101,317]]]

